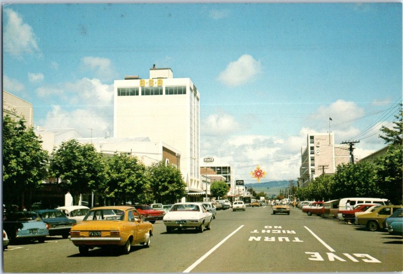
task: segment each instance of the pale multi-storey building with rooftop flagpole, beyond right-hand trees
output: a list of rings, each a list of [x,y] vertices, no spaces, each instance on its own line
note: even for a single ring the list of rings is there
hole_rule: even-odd
[[[322,174],[333,174],[341,163],[350,162],[349,145],[334,144],[333,133],[308,134],[301,148],[300,187]]]

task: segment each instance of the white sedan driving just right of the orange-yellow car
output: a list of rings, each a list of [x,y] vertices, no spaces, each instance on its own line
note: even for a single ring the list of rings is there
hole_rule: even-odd
[[[203,203],[175,203],[171,209],[164,215],[163,222],[167,233],[175,228],[178,230],[195,228],[198,232],[203,232],[211,228],[213,215]]]

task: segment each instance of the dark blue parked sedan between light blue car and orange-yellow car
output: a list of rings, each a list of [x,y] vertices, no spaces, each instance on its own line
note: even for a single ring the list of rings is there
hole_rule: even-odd
[[[40,209],[36,213],[45,222],[49,236],[61,235],[63,239],[67,239],[70,235],[70,229],[77,224],[76,220],[69,219],[58,209]]]

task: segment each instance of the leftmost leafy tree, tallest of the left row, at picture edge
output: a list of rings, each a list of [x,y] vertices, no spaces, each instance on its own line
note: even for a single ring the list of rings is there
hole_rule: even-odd
[[[47,176],[48,153],[25,119],[3,118],[3,201],[25,206],[25,196]],[[29,198],[28,198],[29,199]],[[27,200],[28,200],[27,199]]]

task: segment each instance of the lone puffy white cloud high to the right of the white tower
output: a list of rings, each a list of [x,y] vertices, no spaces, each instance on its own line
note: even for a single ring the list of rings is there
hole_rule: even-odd
[[[239,86],[253,79],[261,70],[260,62],[244,54],[237,61],[228,64],[227,68],[220,73],[218,80],[228,86]]]

